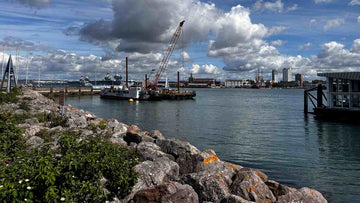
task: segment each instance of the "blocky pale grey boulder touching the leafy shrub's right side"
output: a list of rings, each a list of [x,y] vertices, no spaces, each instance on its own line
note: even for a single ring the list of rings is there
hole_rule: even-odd
[[[177,180],[179,176],[179,165],[166,157],[154,161],[144,161],[135,166],[139,174],[138,183],[133,191],[161,185],[164,182]]]

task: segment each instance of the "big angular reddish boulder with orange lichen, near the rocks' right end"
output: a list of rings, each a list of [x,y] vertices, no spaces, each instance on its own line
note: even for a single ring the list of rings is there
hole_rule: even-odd
[[[262,175],[259,176],[256,170],[249,168],[240,169],[233,178],[231,193],[248,201],[275,202],[276,198],[264,183]]]

